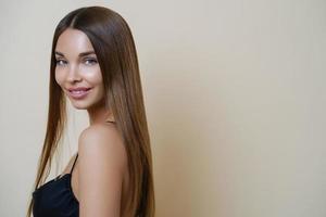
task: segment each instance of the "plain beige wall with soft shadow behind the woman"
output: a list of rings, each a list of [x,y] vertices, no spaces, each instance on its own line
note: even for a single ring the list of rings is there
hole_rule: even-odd
[[[1,1],[0,216],[30,196],[54,27],[92,4],[134,33],[158,217],[326,216],[323,0]],[[61,168],[85,111],[70,124]]]

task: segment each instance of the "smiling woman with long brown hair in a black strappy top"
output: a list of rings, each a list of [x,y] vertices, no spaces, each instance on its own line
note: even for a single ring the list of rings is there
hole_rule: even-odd
[[[78,151],[43,184],[66,126],[66,97],[87,110]],[[27,216],[154,216],[150,137],[136,48],[124,18],[103,7],[70,12],[52,41],[48,125]]]

